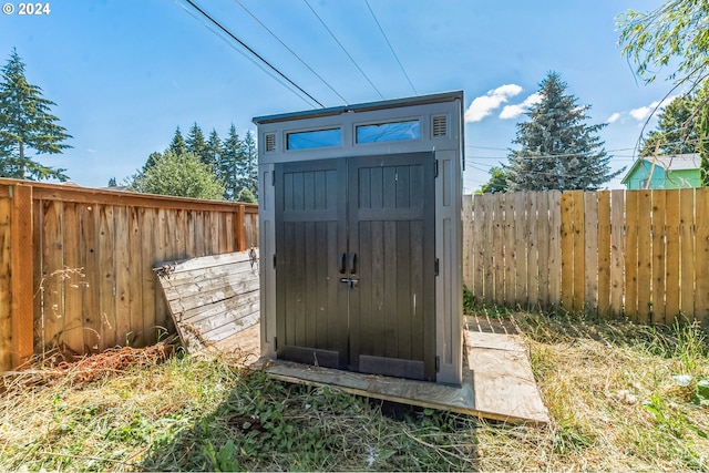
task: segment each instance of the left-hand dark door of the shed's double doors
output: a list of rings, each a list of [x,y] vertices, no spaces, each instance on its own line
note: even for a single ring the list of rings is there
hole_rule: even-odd
[[[346,183],[341,160],[276,166],[276,333],[280,359],[348,366],[345,251]]]

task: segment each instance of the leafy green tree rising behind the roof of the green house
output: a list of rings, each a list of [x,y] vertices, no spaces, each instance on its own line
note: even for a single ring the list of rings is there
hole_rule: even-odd
[[[640,156],[658,154],[687,154],[697,151],[697,102],[696,94],[687,94],[672,100],[659,114],[657,128],[643,142]]]

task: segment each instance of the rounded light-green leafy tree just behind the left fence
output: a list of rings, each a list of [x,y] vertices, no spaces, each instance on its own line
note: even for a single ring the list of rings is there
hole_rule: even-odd
[[[194,153],[176,154],[172,150],[156,155],[154,164],[134,177],[131,188],[147,194],[213,200],[224,195],[224,185],[208,165]]]

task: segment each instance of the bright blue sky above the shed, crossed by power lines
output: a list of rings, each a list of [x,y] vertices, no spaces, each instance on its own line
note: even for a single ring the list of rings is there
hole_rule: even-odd
[[[373,16],[364,0],[194,1],[325,106],[463,90],[466,192],[506,162],[548,71],[592,105],[589,123],[608,123],[600,137],[614,169],[631,164],[649,107],[671,89],[637,80],[617,45],[615,17],[659,0],[369,0]],[[224,137],[234,123],[244,135],[254,116],[318,107],[195,19],[185,0],[52,0],[43,16],[19,16],[10,3],[0,63],[17,48],[28,81],[56,103],[73,148],[39,161],[80,185],[122,182],[164,151],[176,126],[186,134],[196,122]]]

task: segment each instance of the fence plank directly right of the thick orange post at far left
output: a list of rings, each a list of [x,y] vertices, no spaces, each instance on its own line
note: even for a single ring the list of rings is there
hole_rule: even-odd
[[[54,348],[63,340],[64,305],[62,245],[62,203],[44,200],[42,217],[42,284],[40,297],[42,301],[42,321],[44,327],[43,349]]]

